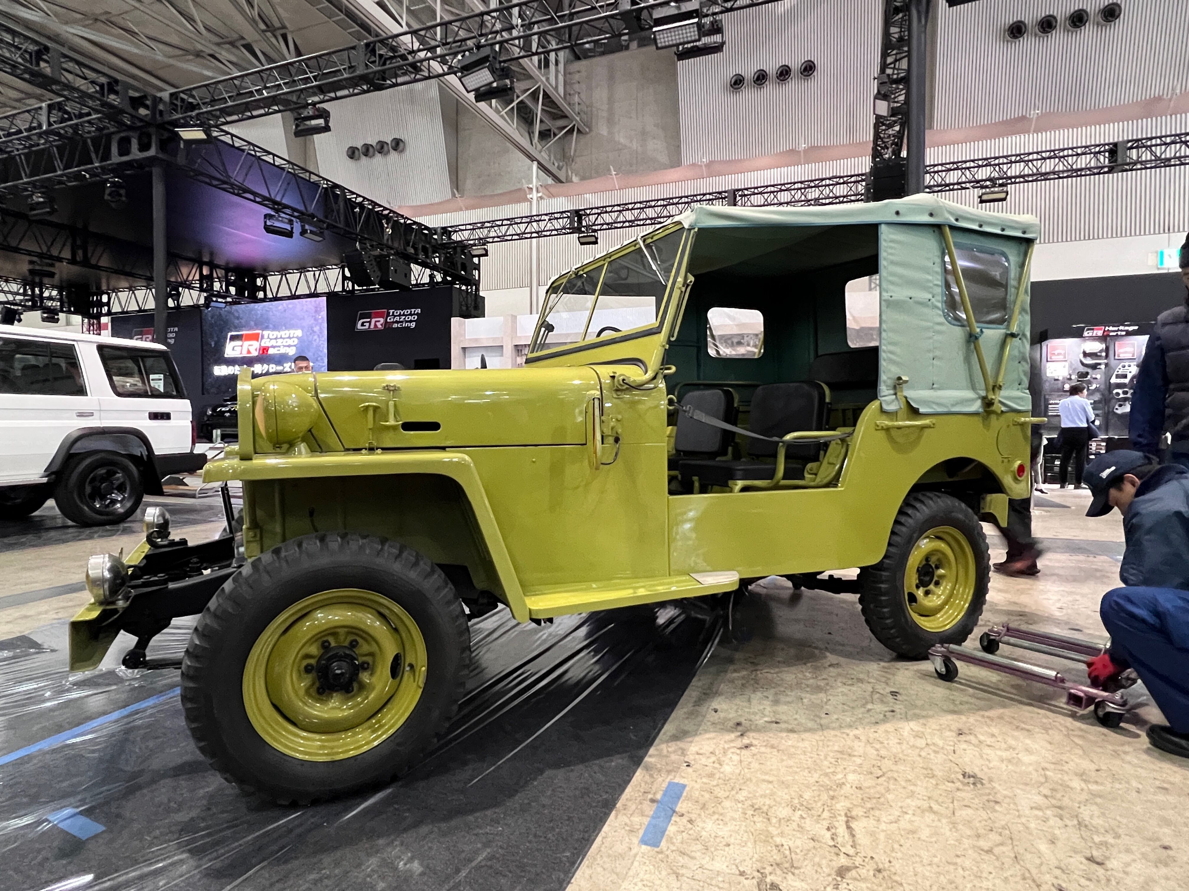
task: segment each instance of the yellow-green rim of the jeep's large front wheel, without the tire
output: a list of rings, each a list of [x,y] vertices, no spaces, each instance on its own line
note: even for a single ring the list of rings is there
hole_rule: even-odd
[[[269,623],[244,665],[244,707],[265,742],[307,762],[366,752],[408,720],[426,685],[426,642],[370,590],[306,598]]]

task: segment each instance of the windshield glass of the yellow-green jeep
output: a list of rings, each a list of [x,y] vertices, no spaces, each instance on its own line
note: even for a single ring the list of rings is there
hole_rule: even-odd
[[[679,228],[660,238],[636,239],[625,253],[554,282],[529,352],[655,324],[684,234]]]

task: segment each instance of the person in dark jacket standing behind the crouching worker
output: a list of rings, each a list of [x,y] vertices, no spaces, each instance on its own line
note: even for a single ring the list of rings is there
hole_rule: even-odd
[[[1172,437],[1165,461],[1189,467],[1189,235],[1181,246],[1185,302],[1156,317],[1131,396],[1132,448],[1158,455],[1160,436]]]

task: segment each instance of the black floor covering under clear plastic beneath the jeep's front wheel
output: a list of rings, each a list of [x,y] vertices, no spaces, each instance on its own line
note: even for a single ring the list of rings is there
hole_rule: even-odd
[[[484,617],[434,752],[391,786],[304,809],[247,798],[207,766],[176,671],[68,676],[63,624],[6,642],[0,762],[165,696],[0,766],[0,889],[562,889],[722,627],[673,606],[542,627]],[[180,655],[187,633],[150,656]]]

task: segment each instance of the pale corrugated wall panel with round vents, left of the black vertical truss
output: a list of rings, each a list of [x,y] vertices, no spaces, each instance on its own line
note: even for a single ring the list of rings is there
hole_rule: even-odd
[[[872,138],[872,78],[882,4],[877,0],[784,0],[724,15],[726,46],[678,63],[681,158],[685,164]],[[813,77],[795,74],[817,62]],[[775,80],[787,64],[793,76]],[[751,76],[767,70],[768,83]],[[728,86],[731,75],[747,83]]]

